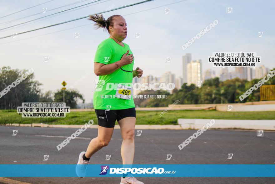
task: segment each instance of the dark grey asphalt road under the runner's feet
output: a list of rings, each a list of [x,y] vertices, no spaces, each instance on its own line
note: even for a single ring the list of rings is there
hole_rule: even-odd
[[[12,136],[12,130],[18,130]],[[76,164],[78,155],[91,139],[97,136],[97,129],[87,129],[60,151],[56,146],[77,129],[5,127],[0,126],[0,164]],[[274,164],[275,132],[264,132],[257,137],[256,131],[207,130],[183,150],[178,145],[196,130],[142,130],[135,136],[134,164]],[[136,130],[137,133],[137,130]],[[53,136],[46,137],[41,135]],[[86,139],[85,139],[86,138]],[[91,138],[91,139],[89,139]],[[91,164],[121,164],[120,147],[122,138],[119,129],[114,130],[108,146],[99,150],[90,159]],[[228,153],[233,153],[232,159]],[[171,160],[166,160],[172,154]],[[49,155],[43,161],[44,155]],[[110,160],[105,160],[111,155]],[[16,162],[15,162],[16,161]],[[116,177],[12,177],[15,183],[104,183],[119,184]],[[145,184],[166,183],[275,183],[270,177],[137,177]],[[0,183],[4,180],[0,178]]]

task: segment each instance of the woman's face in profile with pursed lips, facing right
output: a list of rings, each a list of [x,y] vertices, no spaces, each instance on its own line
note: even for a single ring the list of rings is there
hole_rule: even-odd
[[[114,18],[114,26],[111,27],[114,31],[110,30],[110,34],[118,39],[123,41],[127,37],[127,24],[123,17],[117,16]]]

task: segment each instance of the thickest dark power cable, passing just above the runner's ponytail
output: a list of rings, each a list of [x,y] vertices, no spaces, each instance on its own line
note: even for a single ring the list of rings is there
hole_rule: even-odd
[[[154,0],[146,0],[146,1],[139,2],[139,3],[133,3],[133,4],[129,4],[129,5],[123,6],[123,7],[114,8],[114,9],[111,9],[111,10],[108,10],[108,11],[103,11],[103,12],[95,13],[95,14],[101,14],[101,13],[105,13],[105,12],[111,12],[111,11],[114,11],[114,10],[118,10],[118,9],[122,9],[122,8],[127,8],[127,7],[130,7],[130,6],[135,6],[135,5],[142,4],[142,3],[147,3],[147,2],[150,2],[150,1],[154,1]],[[93,15],[95,15],[95,14],[93,14]],[[68,23],[68,22],[73,22],[73,21],[80,20],[80,19],[83,19],[83,18],[88,18],[88,17],[89,17],[89,15],[85,16],[85,17],[75,18],[75,19],[72,19],[72,20],[61,22],[61,23],[58,23],[58,24],[53,24],[53,25],[42,27],[42,28],[37,28],[37,29],[33,29],[33,30],[17,33],[17,35],[24,34],[24,33],[29,33],[29,32],[32,32],[32,31],[39,30],[39,29],[45,29],[45,28],[53,27],[53,26],[60,25],[60,24],[65,24],[65,23]],[[13,36],[13,34],[1,37],[0,39],[8,38],[8,37],[11,37],[11,36]]]

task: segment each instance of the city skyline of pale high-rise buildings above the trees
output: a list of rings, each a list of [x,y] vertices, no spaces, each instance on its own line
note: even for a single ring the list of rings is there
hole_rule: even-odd
[[[186,66],[184,66],[186,65]],[[135,82],[173,82],[178,88],[179,84],[187,83],[187,85],[195,84],[197,81],[205,81],[214,77],[219,77],[220,81],[230,80],[234,78],[246,79],[251,81],[252,79],[260,79],[264,77],[270,69],[264,65],[257,67],[232,67],[228,70],[228,67],[219,67],[219,72],[216,73],[213,69],[203,70],[202,60],[192,60],[192,53],[187,53],[182,56],[182,75],[178,76],[171,71],[166,71],[161,76],[153,76],[151,74],[141,77],[141,79],[134,79]],[[184,78],[186,77],[186,80]],[[165,78],[165,80],[163,79]],[[153,80],[154,79],[154,80]],[[158,80],[157,80],[158,79]]]

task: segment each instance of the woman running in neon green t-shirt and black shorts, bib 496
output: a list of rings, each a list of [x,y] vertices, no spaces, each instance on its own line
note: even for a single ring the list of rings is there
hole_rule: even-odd
[[[90,20],[96,22],[98,28],[107,29],[110,37],[98,45],[94,59],[94,72],[99,76],[98,85],[93,96],[93,105],[98,118],[98,137],[91,140],[87,151],[79,155],[78,164],[83,165],[77,170],[78,176],[86,173],[86,166],[93,154],[107,146],[113,135],[116,120],[120,126],[123,138],[121,156],[123,164],[133,164],[134,137],[136,124],[136,109],[133,100],[132,88],[121,85],[108,90],[118,83],[131,83],[133,77],[141,77],[143,70],[139,67],[133,71],[134,57],[129,45],[122,42],[127,37],[127,24],[121,15],[113,15],[107,20],[100,15],[90,15]],[[110,85],[111,84],[111,85]],[[109,95],[109,98],[102,98]],[[116,96],[111,98],[110,96]],[[81,174],[82,172],[82,174]],[[120,184],[144,184],[135,177],[127,174],[121,177]]]

